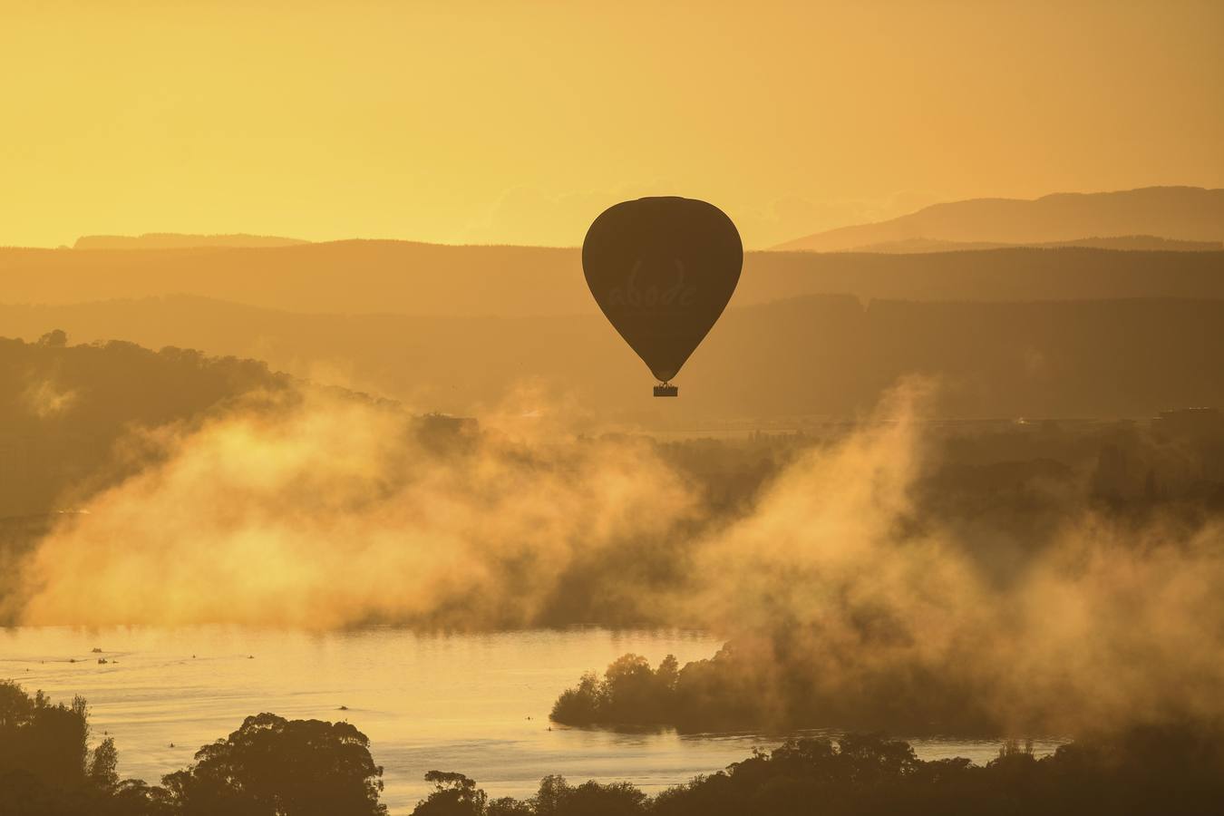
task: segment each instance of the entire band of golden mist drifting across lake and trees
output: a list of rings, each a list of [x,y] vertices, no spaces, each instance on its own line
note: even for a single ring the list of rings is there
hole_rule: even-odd
[[[575,439],[530,389],[480,433],[439,438],[318,394],[235,412],[163,432],[160,464],[66,517],[26,568],[21,619],[488,629],[594,615],[706,626],[780,707],[796,688],[886,677],[898,701],[945,695],[1023,727],[1220,714],[1220,522],[1084,503],[1048,541],[1009,542],[1024,557],[1000,570],[1012,532],[951,524],[917,498],[938,456],[918,421],[930,390],[902,384],[732,519],[661,449]]]

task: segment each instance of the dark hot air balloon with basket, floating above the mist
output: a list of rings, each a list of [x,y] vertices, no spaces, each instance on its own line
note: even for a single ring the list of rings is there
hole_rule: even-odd
[[[595,302],[662,384],[701,343],[739,281],[744,247],[726,213],[693,198],[614,204],[583,241],[583,272]]]

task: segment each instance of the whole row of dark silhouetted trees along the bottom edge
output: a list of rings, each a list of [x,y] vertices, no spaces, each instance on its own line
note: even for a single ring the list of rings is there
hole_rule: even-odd
[[[382,768],[348,723],[247,717],[163,787],[120,781],[114,741],[88,751],[87,708],[0,681],[2,816],[376,816]],[[879,735],[803,739],[647,796],[629,783],[547,776],[529,799],[490,799],[463,773],[431,771],[415,816],[787,816],[791,814],[1214,814],[1224,729],[1132,728],[1037,759],[1009,744],[985,767],[924,762]]]

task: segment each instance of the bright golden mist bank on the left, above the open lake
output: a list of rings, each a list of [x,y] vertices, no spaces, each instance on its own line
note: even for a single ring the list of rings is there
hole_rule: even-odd
[[[693,511],[644,444],[554,444],[539,415],[439,433],[313,395],[165,434],[42,542],[22,620],[531,625],[575,558]]]

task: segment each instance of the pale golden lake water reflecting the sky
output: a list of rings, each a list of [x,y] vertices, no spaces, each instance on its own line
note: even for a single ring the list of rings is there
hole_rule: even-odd
[[[461,771],[492,796],[534,793],[546,773],[657,790],[717,771],[754,745],[778,744],[783,735],[550,729],[552,701],[583,672],[625,652],[652,663],[672,653],[683,664],[718,646],[701,632],[603,629],[419,635],[394,628],[18,628],[0,629],[0,678],[43,689],[53,700],[84,695],[94,739],[114,736],[120,773],[151,783],[191,762],[201,745],[247,714],[346,719],[370,736],[384,768],[384,800],[403,812],[428,792],[421,777],[431,768]],[[922,759],[977,762],[999,747],[993,740],[913,744]],[[1037,750],[1055,745],[1039,743]]]

